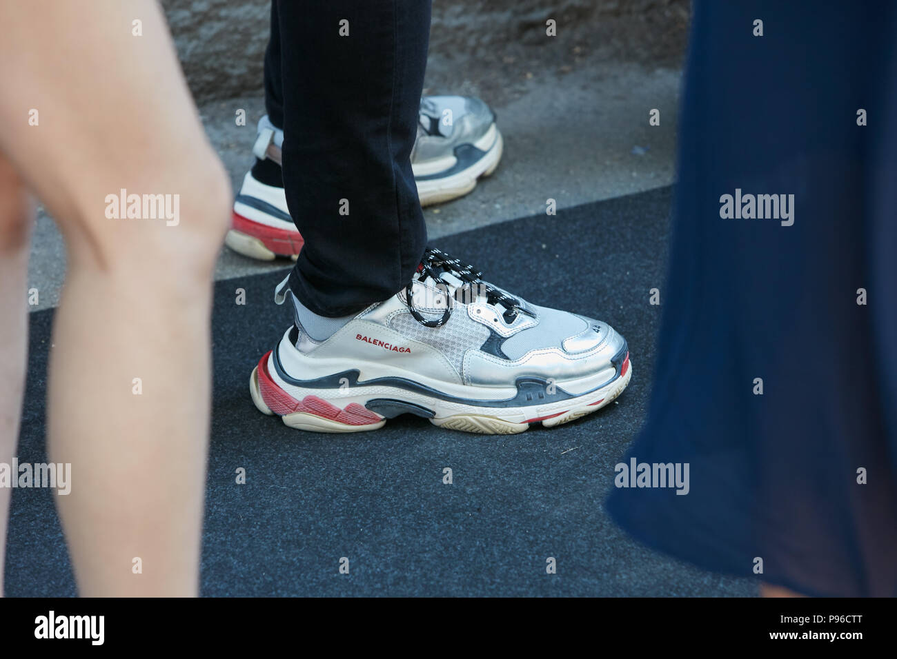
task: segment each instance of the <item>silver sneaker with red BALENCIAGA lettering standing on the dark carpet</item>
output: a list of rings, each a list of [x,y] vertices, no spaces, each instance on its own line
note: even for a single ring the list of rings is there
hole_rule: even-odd
[[[253,369],[256,407],[291,428],[354,432],[411,413],[487,434],[557,426],[623,392],[623,336],[600,321],[537,307],[428,249],[405,290],[356,316],[294,325]],[[292,293],[286,280],[276,300]]]

